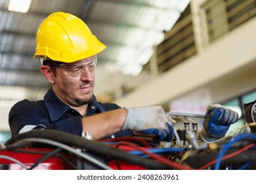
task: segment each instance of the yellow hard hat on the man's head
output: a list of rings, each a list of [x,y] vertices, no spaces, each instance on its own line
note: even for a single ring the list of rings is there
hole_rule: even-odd
[[[39,26],[34,58],[43,56],[72,63],[94,56],[105,48],[83,20],[69,13],[54,12]]]

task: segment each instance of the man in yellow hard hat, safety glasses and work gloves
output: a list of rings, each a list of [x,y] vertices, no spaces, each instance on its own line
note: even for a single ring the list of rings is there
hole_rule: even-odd
[[[87,25],[72,14],[55,12],[43,20],[37,31],[34,58],[40,59],[41,73],[51,88],[43,100],[23,100],[11,108],[12,135],[56,129],[80,136],[90,131],[99,140],[139,131],[171,141],[173,124],[161,106],[121,108],[96,101],[96,54],[105,48]],[[207,111],[202,131],[206,141],[220,139],[238,120],[236,112],[219,105],[209,106]]]

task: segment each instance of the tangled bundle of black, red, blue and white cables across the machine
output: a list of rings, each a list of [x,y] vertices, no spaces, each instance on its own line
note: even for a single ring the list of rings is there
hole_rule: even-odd
[[[137,169],[139,167],[144,167],[145,169],[181,169],[181,170],[192,170],[192,169],[233,169],[240,165],[236,169],[247,169],[250,165],[253,165],[253,160],[256,159],[256,156],[250,156],[251,159],[246,161],[235,161],[236,156],[244,153],[253,153],[255,154],[255,144],[256,144],[256,135],[251,133],[242,133],[236,135],[230,140],[221,142],[219,147],[221,150],[217,152],[215,159],[207,160],[202,165],[202,158],[200,159],[200,152],[190,156],[188,159],[200,159],[200,161],[194,160],[194,163],[188,163],[188,161],[178,161],[169,159],[173,154],[184,155],[188,152],[188,149],[184,147],[175,147],[170,148],[160,148],[158,146],[152,146],[142,139],[137,139],[133,137],[121,137],[115,139],[106,139],[104,141],[91,141],[83,137],[77,137],[69,133],[64,133],[61,131],[55,130],[41,130],[41,131],[30,131],[28,133],[22,133],[16,137],[12,137],[6,144],[0,144],[0,159],[8,159],[20,165],[23,169],[35,169],[40,163],[43,163],[46,159],[56,156],[63,159],[67,162],[72,169],[78,169],[76,165],[71,163],[70,159],[62,156],[60,152],[66,151],[70,154],[74,154],[77,158],[85,159],[87,162],[92,163],[98,169],[113,169],[107,163],[99,161],[90,154],[85,153],[85,151],[92,152],[97,156],[108,157],[116,161],[117,167],[121,169],[121,162],[126,162],[131,165],[130,169]],[[237,143],[240,143],[239,147]],[[3,151],[24,151],[24,153],[35,153],[31,151],[26,151],[26,147],[33,146],[45,146],[45,144],[50,145],[53,149],[49,152],[41,152],[43,156],[37,161],[33,162],[33,165],[30,167],[25,163],[22,163],[14,156],[7,156],[3,154]],[[228,152],[234,146],[238,150],[232,150]],[[205,156],[212,156],[207,150],[202,150]],[[39,153],[39,152],[37,152]],[[168,155],[168,156],[166,156]],[[177,158],[179,159],[179,158]],[[180,158],[181,159],[181,158]],[[227,160],[234,160],[233,162],[228,163]],[[244,163],[241,165],[241,162]],[[198,167],[196,163],[201,163]],[[1,161],[0,161],[1,165]],[[234,166],[236,165],[236,166]]]

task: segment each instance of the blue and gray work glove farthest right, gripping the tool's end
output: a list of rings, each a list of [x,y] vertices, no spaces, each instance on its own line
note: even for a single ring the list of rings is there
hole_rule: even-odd
[[[201,138],[205,142],[216,142],[223,138],[231,124],[238,121],[238,113],[222,105],[209,105],[203,121]]]

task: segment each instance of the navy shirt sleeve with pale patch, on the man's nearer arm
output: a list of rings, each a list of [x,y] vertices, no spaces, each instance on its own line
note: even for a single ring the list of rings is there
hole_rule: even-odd
[[[51,122],[47,108],[40,103],[23,100],[16,103],[9,112],[9,126],[12,136],[33,129],[56,129],[81,136],[82,116],[75,116],[60,122]]]

